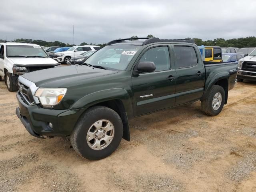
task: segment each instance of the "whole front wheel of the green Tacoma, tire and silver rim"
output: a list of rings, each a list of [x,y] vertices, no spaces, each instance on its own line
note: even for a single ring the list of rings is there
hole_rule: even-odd
[[[122,135],[120,116],[110,108],[95,106],[78,120],[70,142],[74,150],[84,158],[99,160],[116,150]]]

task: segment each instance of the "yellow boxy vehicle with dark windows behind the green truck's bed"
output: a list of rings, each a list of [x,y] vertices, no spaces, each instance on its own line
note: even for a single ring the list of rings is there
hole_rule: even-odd
[[[221,47],[218,46],[205,46],[204,61],[222,62]]]

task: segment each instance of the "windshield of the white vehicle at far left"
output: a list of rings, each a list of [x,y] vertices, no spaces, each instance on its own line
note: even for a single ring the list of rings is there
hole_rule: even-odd
[[[40,46],[31,45],[7,45],[7,57],[45,57],[48,55]]]

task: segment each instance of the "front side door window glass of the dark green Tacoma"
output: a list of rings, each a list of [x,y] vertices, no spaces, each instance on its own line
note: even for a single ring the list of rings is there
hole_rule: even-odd
[[[167,46],[154,47],[147,50],[140,58],[141,61],[154,62],[155,71],[163,71],[170,69],[170,55]]]

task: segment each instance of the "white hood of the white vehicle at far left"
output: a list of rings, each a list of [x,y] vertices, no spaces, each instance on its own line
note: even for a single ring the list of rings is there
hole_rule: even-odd
[[[36,64],[56,64],[55,60],[52,58],[8,58],[13,62],[13,64],[20,65],[36,65]]]

